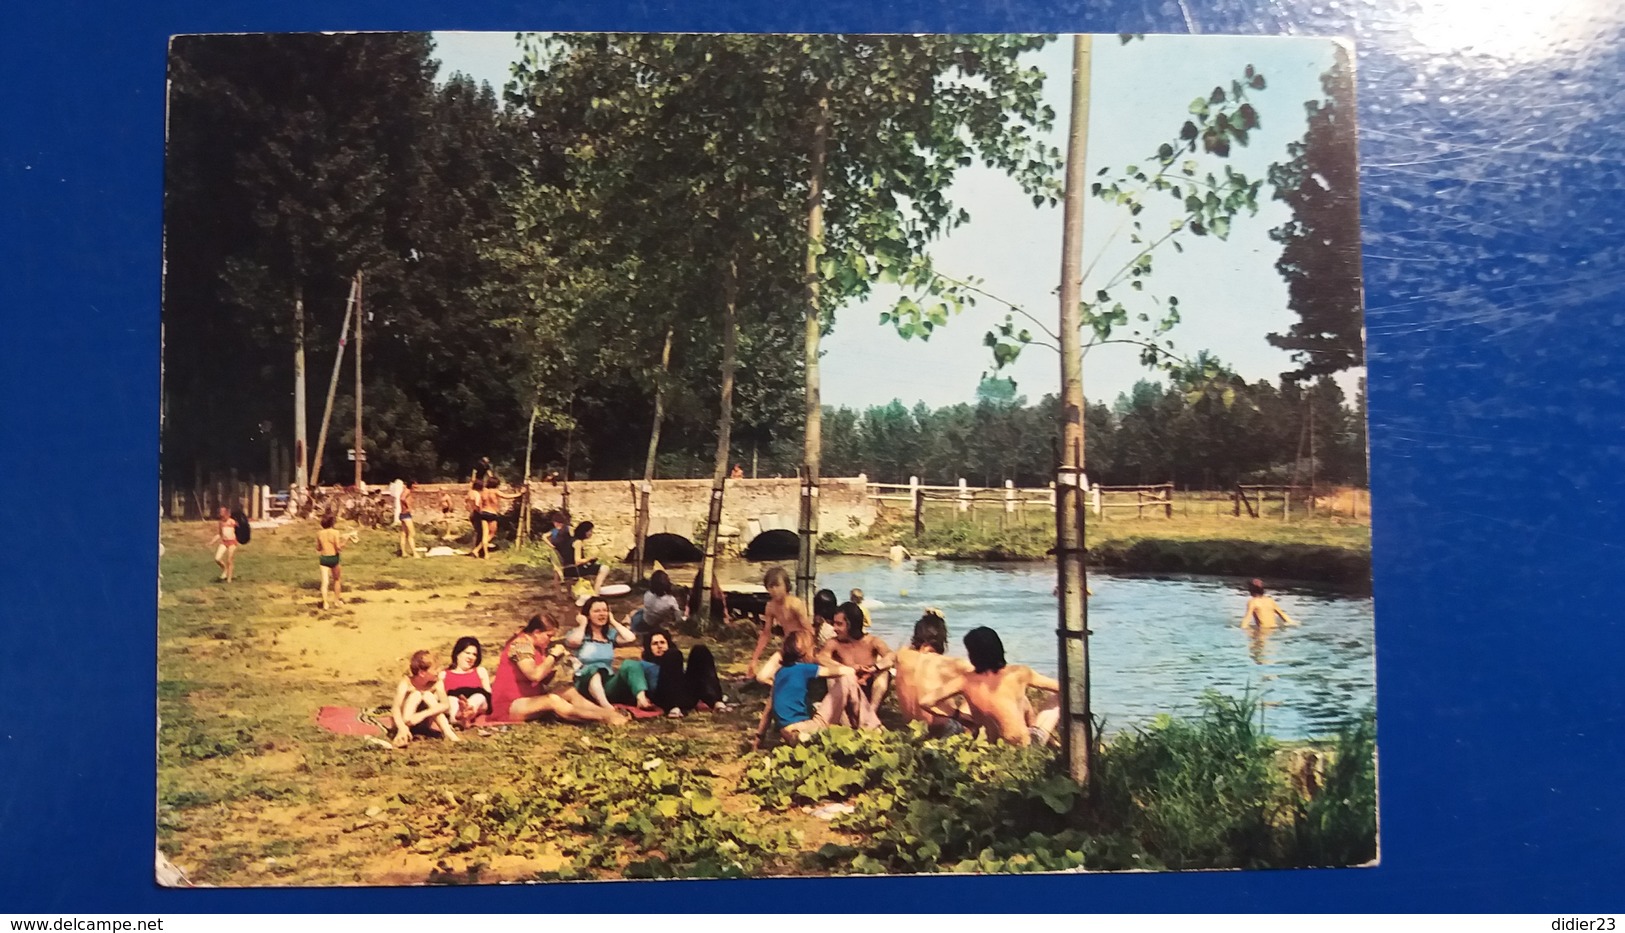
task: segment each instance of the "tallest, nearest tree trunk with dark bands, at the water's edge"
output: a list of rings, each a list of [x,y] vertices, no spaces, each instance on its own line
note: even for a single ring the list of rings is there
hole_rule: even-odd
[[[1084,154],[1089,138],[1089,36],[1072,37],[1072,115],[1066,141],[1061,239],[1061,457],[1055,476],[1055,564],[1061,624],[1061,757],[1089,780],[1089,585],[1084,551],[1084,358],[1079,335],[1084,245]]]

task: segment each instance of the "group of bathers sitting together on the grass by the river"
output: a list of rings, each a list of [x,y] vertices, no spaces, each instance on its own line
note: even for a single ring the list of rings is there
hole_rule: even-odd
[[[882,728],[876,709],[887,692],[897,697],[904,718],[923,722],[931,735],[980,728],[1012,744],[1050,741],[1060,715],[1060,684],[1008,665],[993,629],[968,632],[968,658],[954,658],[947,655],[947,623],[926,610],[908,647],[892,652],[868,634],[861,593],[835,605],[834,593],[821,592],[809,616],[806,605],[790,595],[782,567],[772,567],[764,585],[767,611],[751,657],[756,679],[770,688],[759,743],[769,735],[801,741],[832,725]],[[587,598],[569,631],[549,613],[536,613],[502,645],[496,675],[481,665],[483,649],[473,637],[457,640],[445,670],[436,670],[429,652],[416,652],[395,691],[395,744],[405,746],[414,735],[455,741],[458,728],[476,723],[619,725],[627,720],[622,710],[673,718],[702,709],[728,712],[710,649],[692,645],[684,657],[674,636],[679,621],[670,579],[656,571],[644,610],[624,621],[603,597]],[[775,626],[783,632],[780,649],[762,660]],[[618,647],[637,644],[642,657],[616,658]],[[809,689],[814,681],[826,684],[816,702]],[[1048,702],[1034,705],[1027,688],[1048,691]]]

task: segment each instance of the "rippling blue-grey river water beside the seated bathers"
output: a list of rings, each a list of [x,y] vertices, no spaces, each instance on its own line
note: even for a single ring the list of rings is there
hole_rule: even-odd
[[[767,564],[726,562],[725,582],[760,580]],[[1331,587],[1279,584],[1271,595],[1298,626],[1268,637],[1238,627],[1242,580],[1201,575],[1090,572],[1092,705],[1107,731],[1147,725],[1157,714],[1199,712],[1202,691],[1263,701],[1276,738],[1326,736],[1375,705],[1372,598]],[[845,601],[864,593],[873,632],[907,645],[925,606],[947,619],[949,653],[991,626],[1011,663],[1056,673],[1055,566],[1046,562],[819,558],[819,585]]]

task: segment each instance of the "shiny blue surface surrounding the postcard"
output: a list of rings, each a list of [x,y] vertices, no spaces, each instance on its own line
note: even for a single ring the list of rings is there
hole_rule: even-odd
[[[1428,10],[1443,3],[1435,0]],[[616,909],[1620,909],[1622,13],[1539,55],[1425,47],[1398,0],[824,3],[159,0],[11,10],[0,37],[0,910],[596,910],[600,886],[153,886],[164,59],[172,33],[1144,31],[1354,36],[1370,346],[1383,865],[622,883]],[[1461,3],[1480,20],[1493,8]],[[1521,5],[1519,5],[1521,7]],[[1612,3],[1609,5],[1612,7]],[[1186,11],[1188,8],[1188,11]],[[1544,23],[1524,15],[1516,23]],[[1516,24],[1513,28],[1518,28]],[[1464,31],[1466,34],[1466,31]],[[1568,36],[1570,39],[1563,39]],[[1436,39],[1435,39],[1436,42]],[[34,493],[37,491],[37,493]],[[49,528],[47,528],[49,525]],[[49,715],[18,701],[60,697]],[[842,891],[835,891],[840,886]]]

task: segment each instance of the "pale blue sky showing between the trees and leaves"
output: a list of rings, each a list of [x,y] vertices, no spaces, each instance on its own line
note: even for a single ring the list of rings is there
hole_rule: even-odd
[[[517,44],[512,33],[436,33],[442,80],[463,72],[500,88]],[[1071,109],[1071,41],[1061,37],[1029,60],[1046,75],[1043,98],[1056,114],[1050,145],[1064,151]],[[1321,73],[1331,67],[1334,46],[1328,39],[1149,36],[1128,44],[1097,36],[1092,44],[1087,177],[1103,167],[1149,164],[1157,145],[1170,140],[1188,119],[1188,107],[1214,86],[1228,88],[1253,65],[1266,78],[1264,91],[1250,101],[1261,127],[1246,148],[1232,150],[1230,164],[1250,179],[1263,179],[1268,166],[1285,158],[1287,145],[1305,130],[1303,102],[1323,96]],[[1154,254],[1155,273],[1147,294],[1180,297],[1181,323],[1168,335],[1175,351],[1194,356],[1206,349],[1250,382],[1279,379],[1292,369],[1287,353],[1269,346],[1266,333],[1285,332],[1297,315],[1287,307],[1287,288],[1274,263],[1280,247],[1269,229],[1289,216],[1272,200],[1266,182],[1256,216],[1240,216],[1228,241],[1183,237],[1185,252],[1170,247]],[[1058,315],[1056,286],[1061,270],[1061,208],[1032,205],[1009,177],[980,164],[962,169],[949,198],[970,213],[970,223],[931,249],[936,268],[954,278],[983,280],[985,291],[1040,320]],[[1133,255],[1124,208],[1097,198],[1084,206],[1082,294],[1092,296]],[[1147,231],[1167,229],[1172,213],[1149,206],[1141,221]],[[977,307],[938,328],[930,341],[905,341],[879,314],[900,293],[878,289],[866,304],[840,310],[834,333],[824,340],[822,397],[826,405],[866,408],[899,398],[938,408],[973,401],[983,374],[991,371],[991,351],[983,335],[1003,320],[1004,307],[982,299]],[[1155,310],[1146,304],[1147,310]],[[1131,307],[1131,312],[1136,310]],[[1055,325],[1050,325],[1051,330]],[[1017,390],[1035,401],[1060,387],[1060,359],[1053,349],[1029,346],[999,375],[1016,379]],[[1352,397],[1358,372],[1339,382]],[[1139,362],[1133,346],[1100,346],[1084,359],[1084,392],[1112,401],[1139,379],[1155,379]]]

